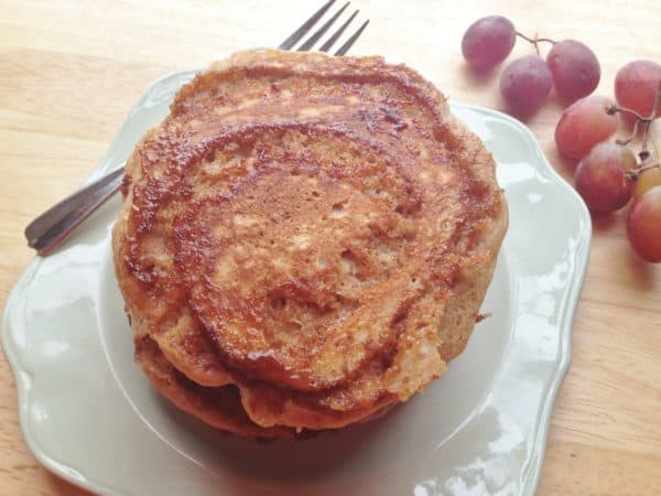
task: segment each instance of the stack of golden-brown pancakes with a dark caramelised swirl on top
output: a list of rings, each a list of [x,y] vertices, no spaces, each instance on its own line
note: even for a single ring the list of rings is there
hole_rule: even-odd
[[[365,421],[440,377],[507,228],[490,153],[380,57],[212,65],[138,143],[122,194],[113,256],[139,364],[249,436]]]

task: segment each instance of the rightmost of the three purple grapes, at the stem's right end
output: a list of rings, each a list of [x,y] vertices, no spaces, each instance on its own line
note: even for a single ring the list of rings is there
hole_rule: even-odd
[[[555,43],[546,55],[546,64],[557,95],[568,103],[593,93],[602,77],[602,67],[593,51],[576,40]]]

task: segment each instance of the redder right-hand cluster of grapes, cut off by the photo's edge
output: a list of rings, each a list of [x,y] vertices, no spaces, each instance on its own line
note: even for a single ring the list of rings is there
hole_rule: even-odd
[[[590,95],[567,107],[555,128],[555,143],[562,154],[579,161],[576,191],[593,214],[618,211],[633,197],[627,216],[631,246],[644,260],[661,262],[661,65],[635,61],[621,67],[615,97],[617,105]],[[619,116],[632,126],[631,134],[607,141]],[[642,148],[637,157],[630,145],[639,128]]]

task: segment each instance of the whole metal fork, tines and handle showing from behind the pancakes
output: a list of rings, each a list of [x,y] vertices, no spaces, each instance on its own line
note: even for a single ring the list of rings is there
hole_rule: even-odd
[[[317,10],[301,28],[294,31],[279,46],[279,50],[293,50],[305,34],[324,17],[336,0],[328,0],[319,10]],[[318,30],[304,41],[297,48],[297,52],[307,52],[319,41],[319,39],[330,29],[342,13],[349,6],[345,3],[330,19],[328,19]],[[349,19],[342,24],[335,33],[318,48],[319,52],[329,52],[333,45],[342,36],[351,21],[358,14],[356,10]],[[365,31],[369,20],[365,21],[356,32],[334,53],[334,55],[345,55],[354,45],[358,36]],[[76,193],[67,196],[62,202],[56,203],[46,212],[41,214],[25,227],[25,238],[28,246],[34,248],[39,255],[45,256],[57,248],[68,235],[83,222],[99,208],[110,196],[119,191],[123,176],[123,165],[98,181],[78,190]]]

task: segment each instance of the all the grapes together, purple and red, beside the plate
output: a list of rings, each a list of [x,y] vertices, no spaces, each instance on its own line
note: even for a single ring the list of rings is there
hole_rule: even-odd
[[[616,105],[590,95],[599,84],[599,62],[578,41],[530,39],[507,18],[490,15],[468,28],[462,52],[474,71],[485,73],[511,53],[517,36],[531,42],[537,54],[512,61],[500,76],[500,94],[510,110],[519,116],[534,112],[555,86],[571,104],[555,128],[555,143],[563,155],[578,161],[576,191],[593,215],[618,211],[633,197],[627,236],[642,259],[661,262],[661,65],[635,61],[621,67],[615,78]],[[545,62],[540,42],[553,45]],[[608,141],[620,117],[632,127],[631,134]],[[631,143],[638,133],[642,145],[637,155]]]

